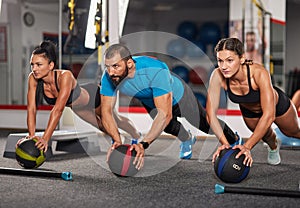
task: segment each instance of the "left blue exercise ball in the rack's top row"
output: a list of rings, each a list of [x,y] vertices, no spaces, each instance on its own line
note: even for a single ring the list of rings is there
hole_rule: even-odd
[[[188,40],[194,40],[198,34],[197,25],[192,21],[183,21],[178,25],[177,34]]]

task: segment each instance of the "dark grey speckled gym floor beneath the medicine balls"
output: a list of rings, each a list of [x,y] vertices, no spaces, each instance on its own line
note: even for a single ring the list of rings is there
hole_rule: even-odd
[[[1,134],[3,155],[7,135]],[[300,198],[215,194],[222,185],[299,191],[300,151],[281,150],[282,163],[267,164],[267,149],[252,151],[254,165],[239,184],[225,184],[214,174],[211,153],[216,138],[198,139],[191,160],[179,160],[179,142],[159,138],[147,149],[145,166],[136,177],[120,178],[106,167],[107,140],[101,152],[54,152],[40,169],[71,171],[72,181],[58,178],[0,175],[0,207],[298,207]],[[105,145],[105,143],[107,143]],[[165,149],[166,148],[166,149]],[[164,149],[164,151],[162,151]],[[20,168],[15,159],[0,157],[0,166]]]

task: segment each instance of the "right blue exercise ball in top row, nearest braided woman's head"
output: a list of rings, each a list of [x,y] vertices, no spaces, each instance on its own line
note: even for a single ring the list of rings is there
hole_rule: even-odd
[[[221,39],[221,29],[214,22],[206,22],[200,27],[200,40],[204,44],[216,44]]]

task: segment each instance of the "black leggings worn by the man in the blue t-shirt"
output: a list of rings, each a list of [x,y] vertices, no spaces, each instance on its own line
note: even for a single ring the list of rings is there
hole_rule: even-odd
[[[202,132],[206,134],[213,134],[210,129],[210,125],[206,120],[206,111],[195,97],[193,91],[187,84],[183,82],[184,85],[184,94],[181,100],[172,107],[172,120],[166,126],[164,131],[166,133],[172,134],[178,137],[181,141],[186,141],[189,139],[189,134],[182,124],[177,120],[178,117],[185,118],[191,125],[197,127]],[[143,104],[147,109],[147,112],[152,118],[157,114],[157,110],[150,108]],[[219,119],[219,122],[223,128],[225,137],[227,138],[230,144],[233,144],[236,140],[234,132],[224,123],[224,121]]]

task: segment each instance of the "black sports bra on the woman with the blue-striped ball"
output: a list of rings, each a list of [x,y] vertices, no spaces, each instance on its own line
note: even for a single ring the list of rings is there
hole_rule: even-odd
[[[230,90],[229,79],[226,79],[227,84],[227,94],[229,99],[234,103],[258,103],[260,102],[260,92],[259,90],[253,90],[251,86],[251,79],[250,79],[250,67],[247,64],[247,78],[248,78],[248,85],[249,85],[249,92],[246,95],[236,95],[233,94]]]

